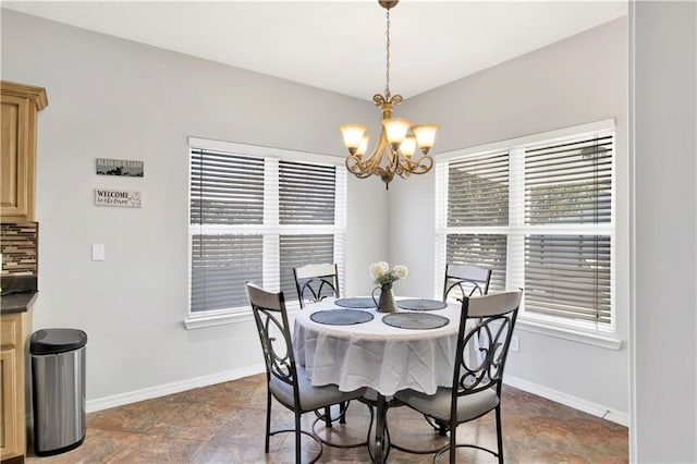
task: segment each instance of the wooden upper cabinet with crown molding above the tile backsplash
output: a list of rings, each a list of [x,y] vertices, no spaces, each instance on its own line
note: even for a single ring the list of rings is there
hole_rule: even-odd
[[[1,81],[0,94],[0,218],[2,222],[33,221],[36,120],[38,112],[48,105],[46,89]]]

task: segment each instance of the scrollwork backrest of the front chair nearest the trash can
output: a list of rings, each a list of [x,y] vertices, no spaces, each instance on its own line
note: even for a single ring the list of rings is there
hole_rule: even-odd
[[[264,350],[267,381],[273,376],[292,386],[296,396],[295,404],[299,404],[295,357],[283,292],[267,292],[250,282],[246,282],[246,288]]]

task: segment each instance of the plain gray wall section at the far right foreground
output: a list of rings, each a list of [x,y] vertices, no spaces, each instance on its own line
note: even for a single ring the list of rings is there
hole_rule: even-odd
[[[697,462],[697,3],[633,2],[631,461]]]

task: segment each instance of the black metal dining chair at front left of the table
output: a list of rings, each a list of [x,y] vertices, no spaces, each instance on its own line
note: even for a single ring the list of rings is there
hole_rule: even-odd
[[[266,453],[269,452],[270,437],[282,432],[294,432],[295,462],[299,464],[301,435],[306,435],[319,444],[319,453],[311,461],[317,462],[322,454],[322,440],[301,429],[301,416],[332,404],[362,398],[365,388],[342,392],[337,386],[314,387],[305,369],[295,364],[283,292],[267,292],[250,282],[246,282],[246,289],[266,362],[267,410],[264,450]],[[271,398],[294,413],[294,429],[271,431]]]

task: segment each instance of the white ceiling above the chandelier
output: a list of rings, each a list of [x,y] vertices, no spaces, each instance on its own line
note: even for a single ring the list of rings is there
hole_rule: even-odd
[[[386,10],[364,1],[1,1],[2,8],[370,100]],[[404,98],[627,13],[626,1],[411,1],[390,11]]]

